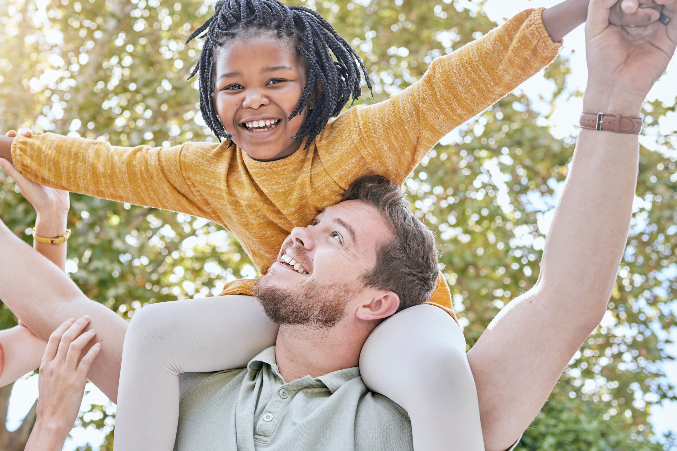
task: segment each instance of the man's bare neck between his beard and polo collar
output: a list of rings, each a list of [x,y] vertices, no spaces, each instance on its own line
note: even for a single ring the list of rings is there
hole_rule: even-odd
[[[281,325],[275,357],[285,382],[318,377],[359,364],[359,352],[373,330],[368,324],[318,328]]]

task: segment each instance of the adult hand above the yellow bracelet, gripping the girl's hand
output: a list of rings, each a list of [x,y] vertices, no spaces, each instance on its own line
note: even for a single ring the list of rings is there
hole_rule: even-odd
[[[30,129],[20,130],[20,132],[25,137],[32,135]],[[36,135],[39,134],[36,133]],[[16,137],[16,135],[14,130],[7,132],[8,137]],[[45,187],[45,185],[26,179],[12,163],[4,158],[0,158],[0,167],[16,181],[22,195],[32,204],[39,216],[64,216],[68,213],[68,208],[70,208],[68,191]]]

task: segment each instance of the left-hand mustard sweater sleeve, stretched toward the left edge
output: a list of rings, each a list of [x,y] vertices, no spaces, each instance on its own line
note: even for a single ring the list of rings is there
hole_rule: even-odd
[[[184,146],[117,147],[46,133],[16,137],[12,160],[28,179],[49,187],[211,218],[183,176]]]

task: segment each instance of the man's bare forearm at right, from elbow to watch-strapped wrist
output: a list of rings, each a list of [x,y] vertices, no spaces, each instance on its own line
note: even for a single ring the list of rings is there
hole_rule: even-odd
[[[638,114],[640,101],[590,88],[585,111]],[[628,236],[638,153],[637,135],[580,131],[538,281],[561,300],[563,314],[585,315],[596,325],[605,312]]]

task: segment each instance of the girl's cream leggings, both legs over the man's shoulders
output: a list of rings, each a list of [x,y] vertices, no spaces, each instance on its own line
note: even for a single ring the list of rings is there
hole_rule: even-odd
[[[133,317],[123,350],[115,451],[171,451],[179,373],[244,368],[275,343],[278,326],[255,298],[152,304]],[[370,335],[364,383],[407,410],[415,451],[483,451],[475,381],[463,333],[435,306],[403,310]]]

